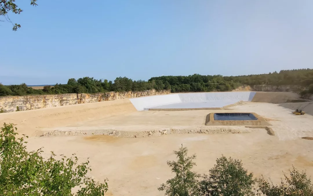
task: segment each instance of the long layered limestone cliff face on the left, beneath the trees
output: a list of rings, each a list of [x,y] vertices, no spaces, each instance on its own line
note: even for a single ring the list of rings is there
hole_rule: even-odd
[[[71,93],[58,95],[29,95],[29,96],[9,96],[0,97],[0,110],[3,112],[14,112],[17,110],[40,109],[62,105],[73,105],[79,103],[93,103],[100,101],[110,101],[126,98],[136,98],[150,95],[163,95],[170,93],[170,90],[147,90],[128,92],[108,92],[108,93]]]

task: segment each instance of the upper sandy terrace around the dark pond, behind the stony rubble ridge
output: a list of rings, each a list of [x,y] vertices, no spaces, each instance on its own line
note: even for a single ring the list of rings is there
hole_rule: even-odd
[[[245,102],[233,106],[228,112],[254,112],[269,119],[275,135],[281,140],[293,140],[299,137],[313,137],[313,116],[291,114],[291,109],[272,103]],[[244,126],[206,126],[205,119],[211,112],[223,110],[192,110],[192,111],[136,111],[99,119],[71,122],[67,126],[42,127],[42,132],[52,130],[120,130],[120,131],[150,131],[150,130],[217,130],[233,129],[243,132],[251,131]],[[55,122],[55,125],[58,123]]]

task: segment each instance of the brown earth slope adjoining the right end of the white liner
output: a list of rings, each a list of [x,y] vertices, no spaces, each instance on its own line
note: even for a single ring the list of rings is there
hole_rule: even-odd
[[[290,92],[256,92],[252,102],[286,103],[291,100],[298,100],[300,96]]]

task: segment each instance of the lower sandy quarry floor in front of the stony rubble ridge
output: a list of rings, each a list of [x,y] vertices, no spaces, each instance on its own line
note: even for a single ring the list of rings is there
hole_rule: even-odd
[[[81,161],[90,157],[91,175],[109,179],[107,195],[164,195],[157,191],[161,183],[173,177],[167,160],[175,160],[172,151],[183,144],[197,153],[195,171],[208,173],[222,154],[243,161],[255,177],[263,174],[278,183],[282,171],[294,165],[313,175],[312,140],[280,140],[254,129],[244,134],[178,134],[145,138],[112,138],[106,135],[33,137],[28,149],[44,146],[45,152],[71,155]],[[44,154],[49,156],[49,153]]]

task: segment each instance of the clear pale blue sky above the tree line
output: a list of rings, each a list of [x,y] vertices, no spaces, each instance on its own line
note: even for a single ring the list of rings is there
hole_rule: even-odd
[[[29,2],[0,23],[6,85],[313,68],[312,0]]]

